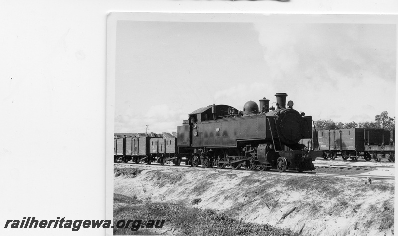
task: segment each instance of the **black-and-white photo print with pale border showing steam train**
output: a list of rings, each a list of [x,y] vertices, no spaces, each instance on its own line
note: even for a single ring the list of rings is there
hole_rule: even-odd
[[[111,234],[394,235],[397,21],[110,13]]]

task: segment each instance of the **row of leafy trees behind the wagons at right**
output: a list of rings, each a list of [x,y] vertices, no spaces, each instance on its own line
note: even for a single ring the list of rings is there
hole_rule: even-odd
[[[334,129],[353,129],[353,128],[382,128],[393,131],[395,129],[395,116],[389,117],[387,111],[383,111],[380,115],[375,116],[374,121],[366,121],[356,123],[351,121],[348,123],[334,122],[333,120],[317,120],[314,121],[316,130],[334,130]],[[391,134],[392,135],[392,134]],[[392,137],[391,137],[392,138]]]

